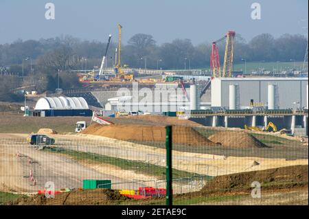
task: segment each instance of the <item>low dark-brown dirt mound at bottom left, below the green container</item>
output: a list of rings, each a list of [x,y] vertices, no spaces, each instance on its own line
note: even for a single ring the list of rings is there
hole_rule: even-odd
[[[126,199],[126,196],[111,189],[78,189],[56,194],[55,198],[46,198],[44,195],[19,198],[9,205],[111,205]]]

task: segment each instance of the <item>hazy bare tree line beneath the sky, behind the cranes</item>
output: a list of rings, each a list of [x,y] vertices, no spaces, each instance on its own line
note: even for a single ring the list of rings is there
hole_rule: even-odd
[[[216,39],[214,39],[216,41]],[[299,34],[284,34],[274,38],[271,34],[260,34],[247,42],[236,34],[234,43],[234,62],[250,61],[302,61],[306,52],[307,38]],[[38,41],[17,40],[0,45],[0,71],[9,71],[19,76],[34,76],[32,82],[39,92],[54,91],[58,82],[58,70],[93,69],[100,67],[107,43],[82,41],[73,36],[40,39]],[[108,50],[106,64],[115,65],[114,38]],[[220,60],[223,62],[225,41],[218,43]],[[170,43],[158,45],[149,34],[135,34],[122,45],[122,65],[148,69],[205,69],[209,68],[210,43],[193,45],[190,39],[176,38]],[[6,70],[3,70],[6,69]],[[25,85],[27,80],[14,77],[2,79],[1,92]],[[60,87],[79,87],[78,78],[61,73]],[[5,84],[5,86],[4,86]],[[7,84],[12,84],[7,85]],[[0,95],[0,100],[9,95]],[[15,97],[15,95],[12,95]],[[14,99],[14,98],[13,98]]]

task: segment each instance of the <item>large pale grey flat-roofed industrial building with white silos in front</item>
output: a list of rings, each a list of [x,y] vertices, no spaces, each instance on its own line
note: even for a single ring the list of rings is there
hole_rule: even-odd
[[[268,101],[273,101],[270,103]],[[308,78],[213,78],[211,106],[240,109],[251,102],[275,109],[308,108]]]

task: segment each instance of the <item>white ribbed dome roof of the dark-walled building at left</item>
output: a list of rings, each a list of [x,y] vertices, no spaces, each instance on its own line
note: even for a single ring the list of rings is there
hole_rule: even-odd
[[[85,110],[89,106],[83,97],[43,97],[34,110]]]

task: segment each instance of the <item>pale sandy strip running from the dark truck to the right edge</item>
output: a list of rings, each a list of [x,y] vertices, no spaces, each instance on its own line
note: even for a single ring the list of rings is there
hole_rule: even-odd
[[[25,137],[23,134],[15,134]],[[165,166],[165,149],[93,135],[54,135],[56,145],[71,150],[103,154]],[[263,157],[225,157],[214,154],[173,152],[173,168],[209,176],[266,170],[288,165],[308,165],[308,159],[288,161]]]

